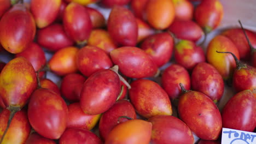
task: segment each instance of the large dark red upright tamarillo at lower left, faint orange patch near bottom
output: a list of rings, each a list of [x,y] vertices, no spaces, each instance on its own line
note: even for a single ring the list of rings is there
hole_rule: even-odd
[[[39,88],[31,95],[27,110],[32,128],[48,139],[59,139],[66,129],[68,109],[55,92]]]

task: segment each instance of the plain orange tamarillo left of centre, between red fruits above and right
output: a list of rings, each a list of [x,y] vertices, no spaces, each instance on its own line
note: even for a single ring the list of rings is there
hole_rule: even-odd
[[[78,51],[77,47],[69,46],[55,52],[48,62],[50,70],[60,76],[78,71],[75,61]]]

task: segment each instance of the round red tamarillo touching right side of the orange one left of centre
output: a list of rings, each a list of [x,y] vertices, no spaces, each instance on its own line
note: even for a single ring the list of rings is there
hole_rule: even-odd
[[[113,63],[106,52],[96,46],[85,46],[76,56],[79,71],[84,76],[90,76],[103,69],[109,69]]]

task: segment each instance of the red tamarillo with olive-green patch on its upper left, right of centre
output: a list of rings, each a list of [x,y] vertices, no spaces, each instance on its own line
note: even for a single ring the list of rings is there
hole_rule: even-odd
[[[193,70],[196,64],[206,61],[203,49],[189,40],[181,40],[174,46],[174,58],[188,70]]]

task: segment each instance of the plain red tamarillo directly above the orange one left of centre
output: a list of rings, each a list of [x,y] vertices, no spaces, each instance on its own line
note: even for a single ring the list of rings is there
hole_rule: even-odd
[[[74,41],[68,37],[63,26],[59,23],[53,23],[45,28],[38,29],[37,41],[46,50],[53,52],[74,44]]]

